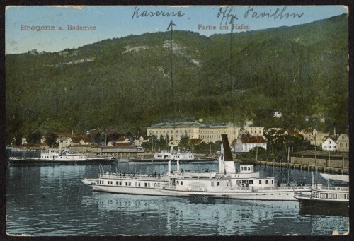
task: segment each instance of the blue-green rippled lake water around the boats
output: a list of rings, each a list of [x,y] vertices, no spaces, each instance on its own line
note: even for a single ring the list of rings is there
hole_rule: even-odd
[[[217,163],[181,164],[183,170],[217,170]],[[239,167],[236,164],[236,167]],[[162,173],[166,164],[104,165],[105,171]],[[256,166],[261,177],[285,180],[287,170]],[[300,212],[297,201],[188,198],[92,192],[82,184],[98,165],[6,167],[6,232],[9,235],[331,235],[348,231],[348,216]],[[311,172],[290,170],[297,182]],[[314,179],[324,182],[318,173]]]

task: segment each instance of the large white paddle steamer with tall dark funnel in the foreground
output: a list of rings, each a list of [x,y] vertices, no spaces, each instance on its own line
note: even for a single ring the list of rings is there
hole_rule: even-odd
[[[168,165],[164,175],[101,172],[98,178],[82,182],[100,192],[222,199],[296,201],[295,191],[310,192],[310,187],[278,186],[274,177],[261,178],[253,165],[241,165],[236,172],[234,161],[225,161],[224,156],[219,157],[219,169],[213,172],[182,172],[179,160],[176,170],[172,170],[171,160]]]

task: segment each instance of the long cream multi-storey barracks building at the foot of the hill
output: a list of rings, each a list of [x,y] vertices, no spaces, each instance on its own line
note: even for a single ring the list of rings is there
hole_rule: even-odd
[[[263,127],[239,127],[234,124],[201,124],[199,122],[159,123],[147,127],[148,136],[169,136],[169,140],[180,141],[183,136],[189,139],[202,139],[205,143],[222,141],[222,134],[227,134],[229,143],[236,140],[240,131],[250,136],[263,136]]]

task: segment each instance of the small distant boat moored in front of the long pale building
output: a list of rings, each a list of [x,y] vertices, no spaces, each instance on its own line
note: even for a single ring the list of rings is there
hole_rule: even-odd
[[[179,160],[180,163],[207,162],[216,160],[215,158],[197,158],[190,151],[160,151],[154,154],[154,158],[130,158],[130,163],[168,163],[169,160]]]

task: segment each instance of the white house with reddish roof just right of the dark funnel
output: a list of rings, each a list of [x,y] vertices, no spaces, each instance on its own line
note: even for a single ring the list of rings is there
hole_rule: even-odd
[[[239,136],[233,143],[236,152],[249,152],[255,147],[267,149],[267,139],[264,136]]]

